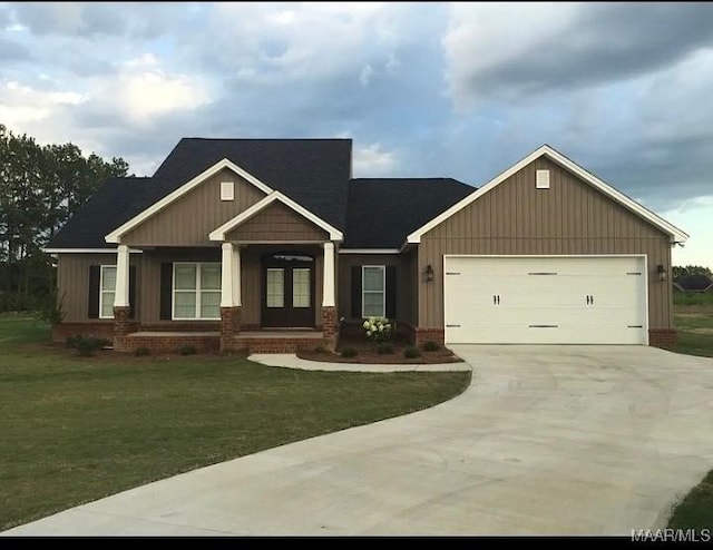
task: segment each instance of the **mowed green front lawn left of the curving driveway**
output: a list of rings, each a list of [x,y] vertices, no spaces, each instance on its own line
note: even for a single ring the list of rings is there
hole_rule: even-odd
[[[179,472],[424,409],[469,373],[323,373],[212,355],[76,357],[0,316],[0,530]]]

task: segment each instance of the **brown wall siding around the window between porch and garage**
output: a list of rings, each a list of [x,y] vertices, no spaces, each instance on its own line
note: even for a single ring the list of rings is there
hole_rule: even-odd
[[[410,254],[339,254],[338,304],[340,317],[352,316],[352,266],[395,266],[397,320],[416,325],[417,307],[413,301],[416,281],[416,252]]]

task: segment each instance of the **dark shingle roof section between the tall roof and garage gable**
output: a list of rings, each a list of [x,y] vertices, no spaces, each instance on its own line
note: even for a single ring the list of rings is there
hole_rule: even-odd
[[[345,248],[399,248],[406,237],[476,188],[450,178],[352,179]]]

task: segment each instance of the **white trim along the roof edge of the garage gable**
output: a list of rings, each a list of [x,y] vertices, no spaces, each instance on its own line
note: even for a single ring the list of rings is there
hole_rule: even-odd
[[[570,159],[565,157],[561,153],[555,150],[554,148],[551,148],[548,145],[543,145],[538,149],[536,149],[533,153],[530,153],[522,160],[520,160],[519,163],[512,165],[510,168],[508,168],[504,173],[501,173],[498,176],[496,176],[495,178],[492,178],[490,181],[488,181],[486,185],[480,187],[478,190],[473,191],[472,194],[470,194],[469,196],[467,196],[466,198],[463,198],[459,203],[452,205],[450,208],[448,208],[442,214],[436,216],[434,218],[430,219],[427,224],[422,225],[417,230],[412,232],[407,237],[407,242],[408,243],[420,243],[421,242],[421,236],[423,234],[428,233],[433,227],[436,227],[437,225],[441,224],[442,222],[445,222],[446,219],[451,217],[453,214],[460,212],[466,206],[471,204],[473,200],[480,198],[482,195],[485,195],[486,193],[490,191],[491,189],[494,189],[495,187],[500,185],[502,181],[508,179],[510,176],[512,176],[514,174],[518,173],[519,170],[525,168],[527,165],[529,165],[530,163],[533,163],[534,160],[536,160],[536,159],[538,159],[539,157],[543,157],[543,156],[546,156],[550,160],[553,160],[553,161],[557,163],[558,165],[563,166],[564,168],[566,168],[567,170],[572,171],[573,174],[578,176],[580,179],[586,181],[587,184],[592,185],[594,188],[596,188],[599,191],[602,191],[604,195],[608,196],[609,198],[612,198],[616,203],[621,204],[623,207],[627,208],[628,210],[633,212],[637,216],[639,216],[643,219],[647,220],[649,224],[652,224],[654,227],[657,227],[658,229],[664,232],[666,235],[670,235],[672,243],[684,243],[688,238],[688,235],[686,233],[684,233],[683,230],[678,229],[673,224],[670,224],[664,218],[662,218],[661,216],[654,214],[653,212],[651,212],[645,206],[641,205],[636,200],[634,200],[634,199],[627,197],[626,195],[624,195],[622,191],[618,191],[614,187],[612,187],[608,184],[604,183],[602,179],[596,177],[594,174],[588,173],[587,170],[582,168],[576,163],[573,163]]]

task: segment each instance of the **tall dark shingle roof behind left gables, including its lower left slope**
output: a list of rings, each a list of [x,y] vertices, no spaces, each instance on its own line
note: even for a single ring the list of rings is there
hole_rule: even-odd
[[[152,178],[104,184],[48,248],[110,247],[105,235],[224,158],[344,230],[351,139],[184,138]]]

